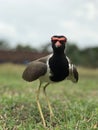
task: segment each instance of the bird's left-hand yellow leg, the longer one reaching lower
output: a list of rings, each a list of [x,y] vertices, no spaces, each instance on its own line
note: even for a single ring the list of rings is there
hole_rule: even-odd
[[[41,87],[41,82],[40,82],[39,88],[37,90],[37,105],[38,105],[38,109],[39,109],[39,112],[40,112],[40,116],[42,118],[43,125],[44,125],[44,127],[46,127],[46,122],[45,122],[43,112],[42,112],[42,109],[41,109],[41,105],[40,105],[40,102],[39,102],[40,87]]]

